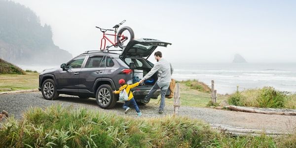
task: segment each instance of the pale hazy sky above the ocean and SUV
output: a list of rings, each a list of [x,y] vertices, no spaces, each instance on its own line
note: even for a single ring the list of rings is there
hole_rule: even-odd
[[[99,49],[95,26],[126,20],[136,38],[172,43],[156,49],[172,63],[231,63],[237,53],[250,63],[296,62],[296,0],[12,1],[35,11],[73,56]]]

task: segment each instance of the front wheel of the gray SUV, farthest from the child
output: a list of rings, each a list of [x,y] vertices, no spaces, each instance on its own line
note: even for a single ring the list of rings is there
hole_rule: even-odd
[[[56,100],[59,97],[57,87],[53,79],[46,79],[41,86],[43,98],[46,100]]]

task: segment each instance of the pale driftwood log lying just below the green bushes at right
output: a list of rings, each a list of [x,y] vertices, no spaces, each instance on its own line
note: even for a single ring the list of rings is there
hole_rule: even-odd
[[[225,108],[232,111],[254,112],[263,114],[278,114],[278,115],[296,115],[296,110],[288,109],[262,109],[262,108],[250,108],[250,107],[238,107],[238,106],[226,106]]]

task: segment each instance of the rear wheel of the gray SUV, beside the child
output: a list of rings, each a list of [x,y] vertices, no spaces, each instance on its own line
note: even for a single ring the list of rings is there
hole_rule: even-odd
[[[97,104],[102,109],[111,109],[116,105],[116,98],[112,93],[112,88],[108,84],[101,85],[96,92]]]

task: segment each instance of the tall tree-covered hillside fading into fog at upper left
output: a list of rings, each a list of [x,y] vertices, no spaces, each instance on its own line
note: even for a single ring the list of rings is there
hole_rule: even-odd
[[[61,64],[72,55],[53,43],[51,27],[42,26],[30,8],[0,0],[0,58],[14,64]]]

